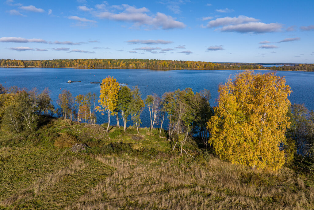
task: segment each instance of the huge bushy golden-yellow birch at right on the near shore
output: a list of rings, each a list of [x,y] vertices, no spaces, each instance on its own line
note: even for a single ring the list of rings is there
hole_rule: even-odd
[[[208,122],[209,143],[223,160],[254,168],[284,164],[286,116],[291,90],[275,73],[239,73],[220,85],[215,115]]]

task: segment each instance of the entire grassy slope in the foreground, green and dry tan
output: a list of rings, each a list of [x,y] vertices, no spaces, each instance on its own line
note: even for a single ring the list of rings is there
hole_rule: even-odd
[[[196,158],[181,157],[162,134],[60,119],[21,137],[1,131],[0,209],[314,209],[306,161],[251,170],[195,142]]]

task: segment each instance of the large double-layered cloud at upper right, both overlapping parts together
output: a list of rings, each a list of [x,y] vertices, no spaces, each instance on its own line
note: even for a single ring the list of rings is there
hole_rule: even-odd
[[[244,15],[238,17],[217,18],[209,21],[208,28],[221,27],[220,31],[239,32],[239,33],[266,33],[278,32],[283,28],[279,23],[262,23],[256,18],[250,18]]]

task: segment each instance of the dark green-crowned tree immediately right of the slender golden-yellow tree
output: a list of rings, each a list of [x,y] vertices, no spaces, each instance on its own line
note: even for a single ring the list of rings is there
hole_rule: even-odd
[[[132,99],[131,89],[127,86],[122,86],[118,92],[117,109],[122,114],[124,131],[127,131],[127,118],[130,115],[128,108],[129,108],[131,99]]]

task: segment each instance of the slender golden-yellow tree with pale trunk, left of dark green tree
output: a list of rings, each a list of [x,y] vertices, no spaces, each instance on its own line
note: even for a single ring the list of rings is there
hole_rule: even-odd
[[[108,76],[102,80],[100,85],[100,100],[98,100],[98,103],[103,109],[100,106],[96,106],[96,110],[101,112],[101,115],[104,115],[104,112],[108,113],[107,132],[109,130],[111,112],[117,107],[119,90],[120,85],[113,77]]]

